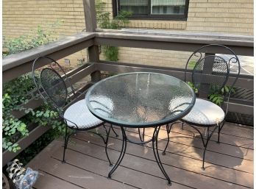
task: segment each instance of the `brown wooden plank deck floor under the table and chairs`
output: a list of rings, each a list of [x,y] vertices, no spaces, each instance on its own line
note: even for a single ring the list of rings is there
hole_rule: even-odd
[[[166,145],[166,131],[160,131],[159,149]],[[116,127],[116,131],[120,129]],[[151,143],[139,146],[127,143],[127,154],[107,179],[110,167],[104,153],[104,143],[96,135],[79,133],[71,139],[66,151],[66,163],[61,163],[63,139],[54,140],[30,163],[31,168],[40,171],[34,188],[37,189],[115,189],[115,188],[253,188],[253,129],[227,123],[222,129],[221,143],[213,135],[206,152],[205,171],[202,171],[202,141],[195,132],[185,126],[175,125],[171,142],[165,156],[160,154],[167,174],[166,179],[154,161]],[[99,132],[103,132],[100,129]],[[152,135],[153,129],[146,129]],[[193,133],[195,138],[193,138]],[[137,138],[137,131],[129,129],[130,138]],[[121,138],[111,133],[108,153],[115,163],[121,150]]]

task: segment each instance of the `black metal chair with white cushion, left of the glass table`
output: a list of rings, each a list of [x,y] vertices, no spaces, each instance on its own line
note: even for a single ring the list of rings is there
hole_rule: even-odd
[[[39,76],[36,76],[35,70],[36,68],[40,67],[39,64],[42,63],[42,61],[47,61],[49,63],[48,67],[43,68],[40,71]],[[90,113],[85,103],[85,99],[78,99],[78,92],[74,90],[71,82],[68,79],[68,76],[65,74],[65,71],[55,60],[51,59],[50,57],[38,57],[35,59],[32,65],[32,78],[34,79],[35,86],[38,89],[40,96],[47,104],[51,105],[51,107],[57,111],[57,113],[60,115],[60,118],[63,118],[65,122],[66,126],[63,163],[65,163],[65,149],[68,147],[68,139],[74,133],[93,132],[92,129],[95,129],[98,126],[104,127],[107,136],[110,133],[110,129],[115,132],[112,125],[110,125],[110,128],[107,130],[104,122]],[[66,107],[68,101],[71,99],[75,99],[76,102]],[[97,101],[93,101],[93,103],[97,105]],[[111,103],[111,101],[107,101],[106,103]],[[102,109],[102,106],[100,107]],[[104,108],[105,110],[102,110],[102,112],[107,113],[108,111],[111,111],[109,107]],[[73,132],[68,133],[68,129],[71,129]],[[97,132],[93,133],[99,135],[99,137],[102,138],[105,144],[105,152],[107,154],[108,138],[104,138]],[[118,136],[116,132],[115,135],[116,137]],[[110,165],[112,165],[108,154],[107,160],[109,161]]]

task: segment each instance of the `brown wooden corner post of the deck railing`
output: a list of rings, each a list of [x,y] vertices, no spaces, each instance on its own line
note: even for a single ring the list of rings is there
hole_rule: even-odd
[[[85,11],[86,32],[95,32],[97,27],[96,9],[94,0],[83,0]],[[88,48],[89,61],[99,63],[99,46],[93,45]],[[101,72],[94,71],[90,74],[92,82],[98,82],[101,79]]]

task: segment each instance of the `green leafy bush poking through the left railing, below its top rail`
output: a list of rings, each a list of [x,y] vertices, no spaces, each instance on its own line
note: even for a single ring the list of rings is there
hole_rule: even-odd
[[[35,86],[29,74],[20,76],[13,81],[4,83],[3,85],[3,148],[8,151],[16,152],[21,149],[16,141],[18,138],[29,135],[27,129],[28,124],[51,124],[59,131],[63,131],[63,123],[58,121],[56,112],[44,104],[36,110],[24,107],[29,100],[37,96],[33,95]],[[27,113],[23,118],[15,118],[13,110],[24,111]]]

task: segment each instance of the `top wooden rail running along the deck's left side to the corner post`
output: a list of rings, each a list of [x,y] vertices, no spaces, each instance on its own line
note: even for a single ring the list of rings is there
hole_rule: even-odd
[[[49,56],[54,60],[60,60],[77,51],[93,46],[94,37],[95,34],[93,33],[80,33],[26,52],[4,57],[2,64],[3,82],[8,82],[32,71],[32,62],[37,57]],[[38,60],[37,65],[40,68],[48,63],[46,60]]]

